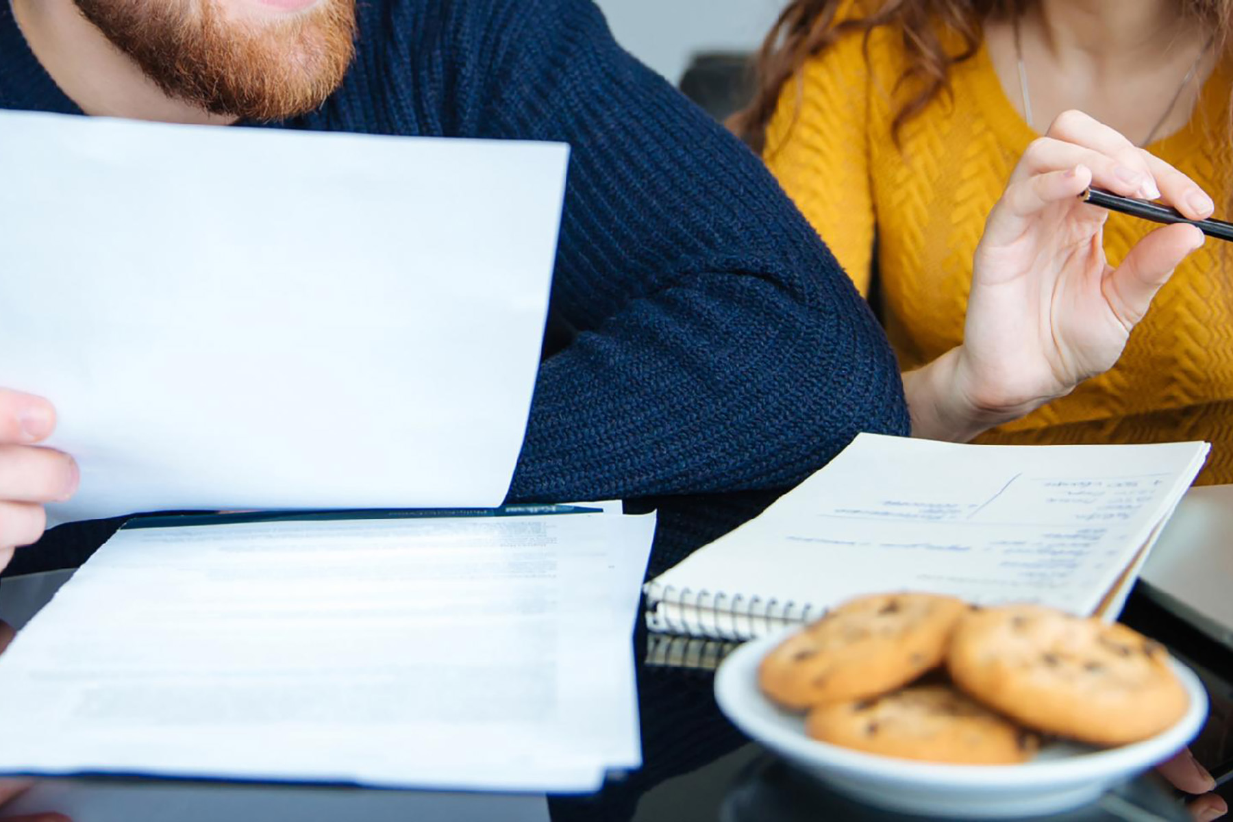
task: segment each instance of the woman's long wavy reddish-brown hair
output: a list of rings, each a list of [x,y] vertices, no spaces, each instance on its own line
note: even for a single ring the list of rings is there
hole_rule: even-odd
[[[1021,14],[1031,0],[792,0],[776,21],[758,52],[753,102],[729,126],[762,153],[784,86],[798,78],[805,63],[851,32],[868,35],[879,26],[903,37],[907,65],[896,90],[910,89],[901,102],[891,133],[896,140],[904,123],[935,97],[949,90],[951,68],[970,59],[980,48],[981,23],[991,15]],[[1233,28],[1233,0],[1178,0],[1181,10],[1198,15],[1217,35],[1223,49]],[[837,20],[843,6],[851,15]],[[962,48],[947,46],[946,35],[958,36]]]

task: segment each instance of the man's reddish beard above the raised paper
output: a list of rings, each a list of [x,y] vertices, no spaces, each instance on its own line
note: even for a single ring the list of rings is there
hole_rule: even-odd
[[[321,0],[269,23],[217,0],[75,0],[170,96],[215,115],[277,121],[321,106],[355,54],[355,0]]]

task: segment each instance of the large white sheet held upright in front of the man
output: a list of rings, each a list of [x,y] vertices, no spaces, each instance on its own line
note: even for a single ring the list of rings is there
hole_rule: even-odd
[[[0,112],[0,386],[58,521],[498,505],[568,149]]]

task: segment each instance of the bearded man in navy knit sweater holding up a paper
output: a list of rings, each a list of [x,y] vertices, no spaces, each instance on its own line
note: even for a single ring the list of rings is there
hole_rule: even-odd
[[[561,341],[510,499],[658,498],[656,567],[732,524],[682,514],[697,495],[773,492],[858,431],[907,433],[882,333],[813,229],[589,0],[0,0],[0,107],[570,143]],[[55,398],[9,388],[0,566],[76,483],[37,447]]]

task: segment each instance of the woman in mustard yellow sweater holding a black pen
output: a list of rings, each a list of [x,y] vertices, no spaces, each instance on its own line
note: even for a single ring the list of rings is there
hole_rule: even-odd
[[[789,4],[732,124],[877,295],[914,434],[1207,439],[1233,482],[1227,246],[1079,200],[1231,198],[1231,28],[1233,0]],[[1189,752],[1163,770],[1210,790]]]

